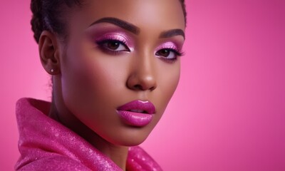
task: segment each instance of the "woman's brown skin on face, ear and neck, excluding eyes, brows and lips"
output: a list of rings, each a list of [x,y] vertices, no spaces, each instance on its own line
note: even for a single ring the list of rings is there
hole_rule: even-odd
[[[69,10],[68,39],[43,31],[38,43],[43,68],[53,75],[50,116],[125,170],[128,146],[147,138],[177,87],[180,57],[169,62],[156,52],[166,42],[182,48],[183,36],[160,37],[172,29],[185,31],[181,4],[177,0],[85,1],[81,8]],[[105,22],[93,24],[104,17],[127,21],[139,33]],[[107,51],[103,51],[95,42],[102,33],[118,32],[127,37],[130,51],[108,53],[112,46],[105,44]],[[116,109],[133,100],[155,105],[150,124],[133,127],[120,120]]]

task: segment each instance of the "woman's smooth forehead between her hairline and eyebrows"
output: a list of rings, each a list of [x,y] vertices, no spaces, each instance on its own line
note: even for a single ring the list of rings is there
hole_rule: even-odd
[[[86,0],[80,9],[72,11],[71,26],[87,28],[104,17],[115,17],[138,26],[168,30],[185,29],[185,19],[179,0]]]

